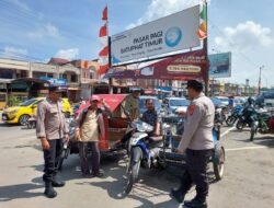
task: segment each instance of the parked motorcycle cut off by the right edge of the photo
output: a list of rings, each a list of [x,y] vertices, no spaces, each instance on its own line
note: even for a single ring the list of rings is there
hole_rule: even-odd
[[[254,120],[251,125],[250,141],[254,140],[254,136],[256,132],[260,132],[262,135],[274,134],[273,112],[271,113],[265,109],[260,109],[258,112],[258,119]]]

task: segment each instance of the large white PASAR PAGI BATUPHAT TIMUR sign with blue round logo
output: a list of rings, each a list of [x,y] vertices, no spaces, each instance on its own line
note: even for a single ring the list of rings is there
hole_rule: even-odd
[[[122,32],[111,37],[112,65],[162,56],[199,46],[199,5]],[[179,54],[179,53],[178,53]]]

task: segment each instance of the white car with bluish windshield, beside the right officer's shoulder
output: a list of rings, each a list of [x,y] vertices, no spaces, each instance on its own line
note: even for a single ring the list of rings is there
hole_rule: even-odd
[[[184,97],[167,97],[163,103],[168,107],[169,113],[186,112],[190,101]]]

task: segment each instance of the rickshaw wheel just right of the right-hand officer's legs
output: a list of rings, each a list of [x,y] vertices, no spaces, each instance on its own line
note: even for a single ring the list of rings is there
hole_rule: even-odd
[[[219,150],[215,149],[214,155],[213,155],[213,169],[214,174],[216,176],[216,180],[219,181],[224,176],[225,172],[225,149],[221,146],[217,146],[216,148],[219,148]]]

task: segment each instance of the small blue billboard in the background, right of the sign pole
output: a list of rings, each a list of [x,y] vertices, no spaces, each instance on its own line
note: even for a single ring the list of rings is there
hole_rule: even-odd
[[[231,53],[209,55],[209,78],[231,77]]]

